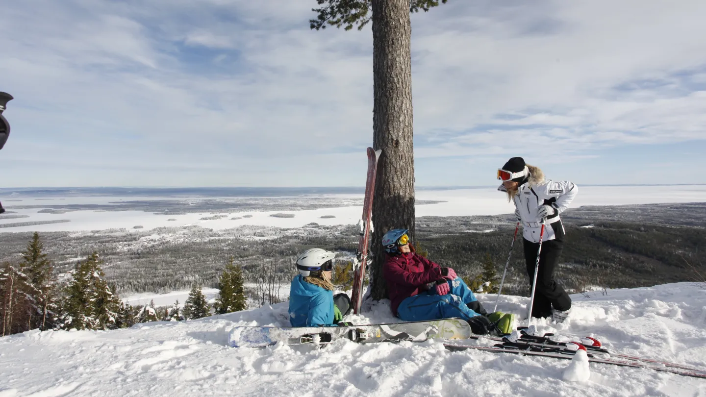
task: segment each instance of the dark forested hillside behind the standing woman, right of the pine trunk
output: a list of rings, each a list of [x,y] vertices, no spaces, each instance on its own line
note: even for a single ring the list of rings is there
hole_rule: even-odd
[[[502,271],[514,228],[463,235],[429,235],[421,230],[420,244],[429,259],[464,275],[481,272],[489,253]],[[635,223],[597,223],[592,227],[566,225],[566,240],[556,278],[572,292],[587,287],[634,288],[694,280],[694,269],[705,266],[706,230],[697,227],[659,227]],[[508,268],[508,294],[529,295],[522,244],[515,244]],[[700,280],[703,281],[703,280]]]

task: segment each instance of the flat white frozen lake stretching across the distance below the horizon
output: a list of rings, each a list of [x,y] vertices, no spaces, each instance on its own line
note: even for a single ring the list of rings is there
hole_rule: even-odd
[[[579,186],[580,191],[571,204],[578,206],[613,206],[623,204],[645,203],[689,203],[701,202],[706,197],[706,185],[680,186]],[[333,195],[343,200],[350,194]],[[327,196],[327,197],[333,197]],[[362,198],[362,195],[359,195]],[[512,213],[512,204],[505,200],[502,193],[495,188],[453,189],[453,190],[421,190],[416,193],[417,200],[444,201],[436,204],[418,205],[417,216],[452,216],[452,215],[498,215]],[[350,225],[358,222],[361,206],[341,206],[337,208],[319,208],[305,211],[245,211],[243,213],[186,213],[182,215],[157,215],[145,211],[68,211],[66,213],[40,213],[41,208],[16,209],[12,206],[28,205],[59,205],[59,204],[107,204],[116,201],[145,200],[145,197],[73,197],[66,198],[14,198],[5,202],[5,206],[15,213],[27,218],[0,218],[0,225],[23,222],[47,222],[70,220],[66,223],[48,225],[31,225],[21,227],[0,227],[0,232],[61,232],[80,230],[105,230],[126,228],[131,230],[150,230],[163,226],[199,225],[213,230],[223,230],[242,225],[301,227],[307,223],[319,225]],[[164,199],[153,197],[149,199]],[[203,198],[194,198],[200,200]],[[20,201],[15,201],[20,200]],[[306,200],[302,197],[301,200]],[[289,213],[294,218],[275,218],[273,213]],[[224,215],[224,218],[202,220],[213,215]],[[251,215],[251,218],[242,218]],[[335,218],[321,218],[333,215]],[[241,218],[235,219],[232,218]],[[173,219],[173,220],[169,220]],[[133,229],[142,226],[140,229]]]

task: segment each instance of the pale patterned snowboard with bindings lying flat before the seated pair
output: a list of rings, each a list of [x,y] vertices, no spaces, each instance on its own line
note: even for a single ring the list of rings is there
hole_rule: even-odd
[[[470,336],[471,327],[464,319],[329,327],[237,326],[229,333],[228,345],[232,348],[259,348],[277,342],[320,345],[339,339],[357,343],[422,342],[432,338],[467,339]]]

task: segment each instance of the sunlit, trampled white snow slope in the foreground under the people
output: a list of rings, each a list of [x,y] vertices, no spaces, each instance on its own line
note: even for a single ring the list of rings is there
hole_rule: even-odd
[[[539,331],[594,336],[614,352],[706,368],[706,289],[693,283],[573,295],[564,324]],[[479,294],[492,309],[494,295]],[[499,309],[525,312],[526,297]],[[286,325],[287,303],[186,324],[117,331],[29,331],[0,338],[0,396],[706,396],[706,381],[650,369],[590,365],[563,381],[570,360],[480,351],[439,341],[228,348],[236,325]],[[378,302],[358,324],[395,321]],[[516,324],[517,325],[517,324]],[[467,340],[467,343],[487,341]]]

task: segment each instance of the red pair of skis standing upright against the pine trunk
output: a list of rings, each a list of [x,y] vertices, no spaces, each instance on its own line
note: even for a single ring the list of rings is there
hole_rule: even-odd
[[[365,270],[368,264],[369,254],[369,239],[373,232],[373,223],[371,216],[373,213],[373,197],[375,196],[375,176],[378,170],[378,158],[382,150],[367,149],[368,153],[368,176],[365,182],[365,198],[363,199],[363,215],[358,222],[360,227],[360,240],[358,242],[358,250],[354,260],[354,275],[353,275],[353,292],[351,302],[353,304],[353,312],[360,312],[361,302],[363,300],[363,282],[365,280]]]

